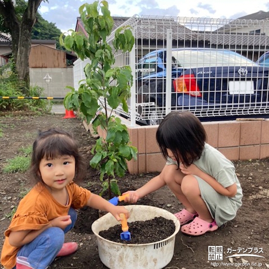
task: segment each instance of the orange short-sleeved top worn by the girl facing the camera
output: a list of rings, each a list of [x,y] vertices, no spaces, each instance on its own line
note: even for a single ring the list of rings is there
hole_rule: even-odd
[[[6,269],[16,266],[16,256],[20,247],[12,247],[8,242],[11,231],[39,230],[57,217],[68,215],[70,207],[74,209],[87,205],[90,191],[71,182],[67,185],[69,202],[63,205],[57,202],[47,188],[38,183],[21,200],[8,229],[1,252],[1,264]]]

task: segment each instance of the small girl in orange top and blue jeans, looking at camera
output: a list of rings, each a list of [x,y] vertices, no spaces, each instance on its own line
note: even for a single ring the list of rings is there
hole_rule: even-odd
[[[71,134],[50,129],[33,144],[31,175],[36,185],[22,199],[5,231],[1,264],[6,269],[46,269],[56,256],[73,253],[77,243],[64,243],[73,228],[75,209],[90,206],[110,212],[120,221],[129,217],[123,206],[114,206],[99,195],[79,187],[86,168]]]

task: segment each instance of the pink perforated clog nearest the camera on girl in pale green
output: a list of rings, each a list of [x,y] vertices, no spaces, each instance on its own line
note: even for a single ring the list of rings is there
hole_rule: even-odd
[[[218,228],[219,226],[216,224],[215,220],[212,223],[208,223],[197,217],[191,223],[182,226],[180,230],[182,233],[197,236],[205,234],[206,232],[213,232]]]

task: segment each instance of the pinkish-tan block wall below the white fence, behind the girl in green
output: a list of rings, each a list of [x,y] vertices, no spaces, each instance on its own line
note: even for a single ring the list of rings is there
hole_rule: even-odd
[[[202,123],[207,142],[230,160],[269,157],[269,120],[218,121]],[[160,172],[165,164],[156,142],[157,126],[128,127],[132,144],[138,149],[137,161],[128,163],[129,172]]]

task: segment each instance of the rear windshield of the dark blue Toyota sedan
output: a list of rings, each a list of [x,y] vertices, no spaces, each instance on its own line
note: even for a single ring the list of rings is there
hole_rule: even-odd
[[[255,66],[256,64],[230,50],[174,50],[172,56],[184,68],[223,67],[223,66]]]

